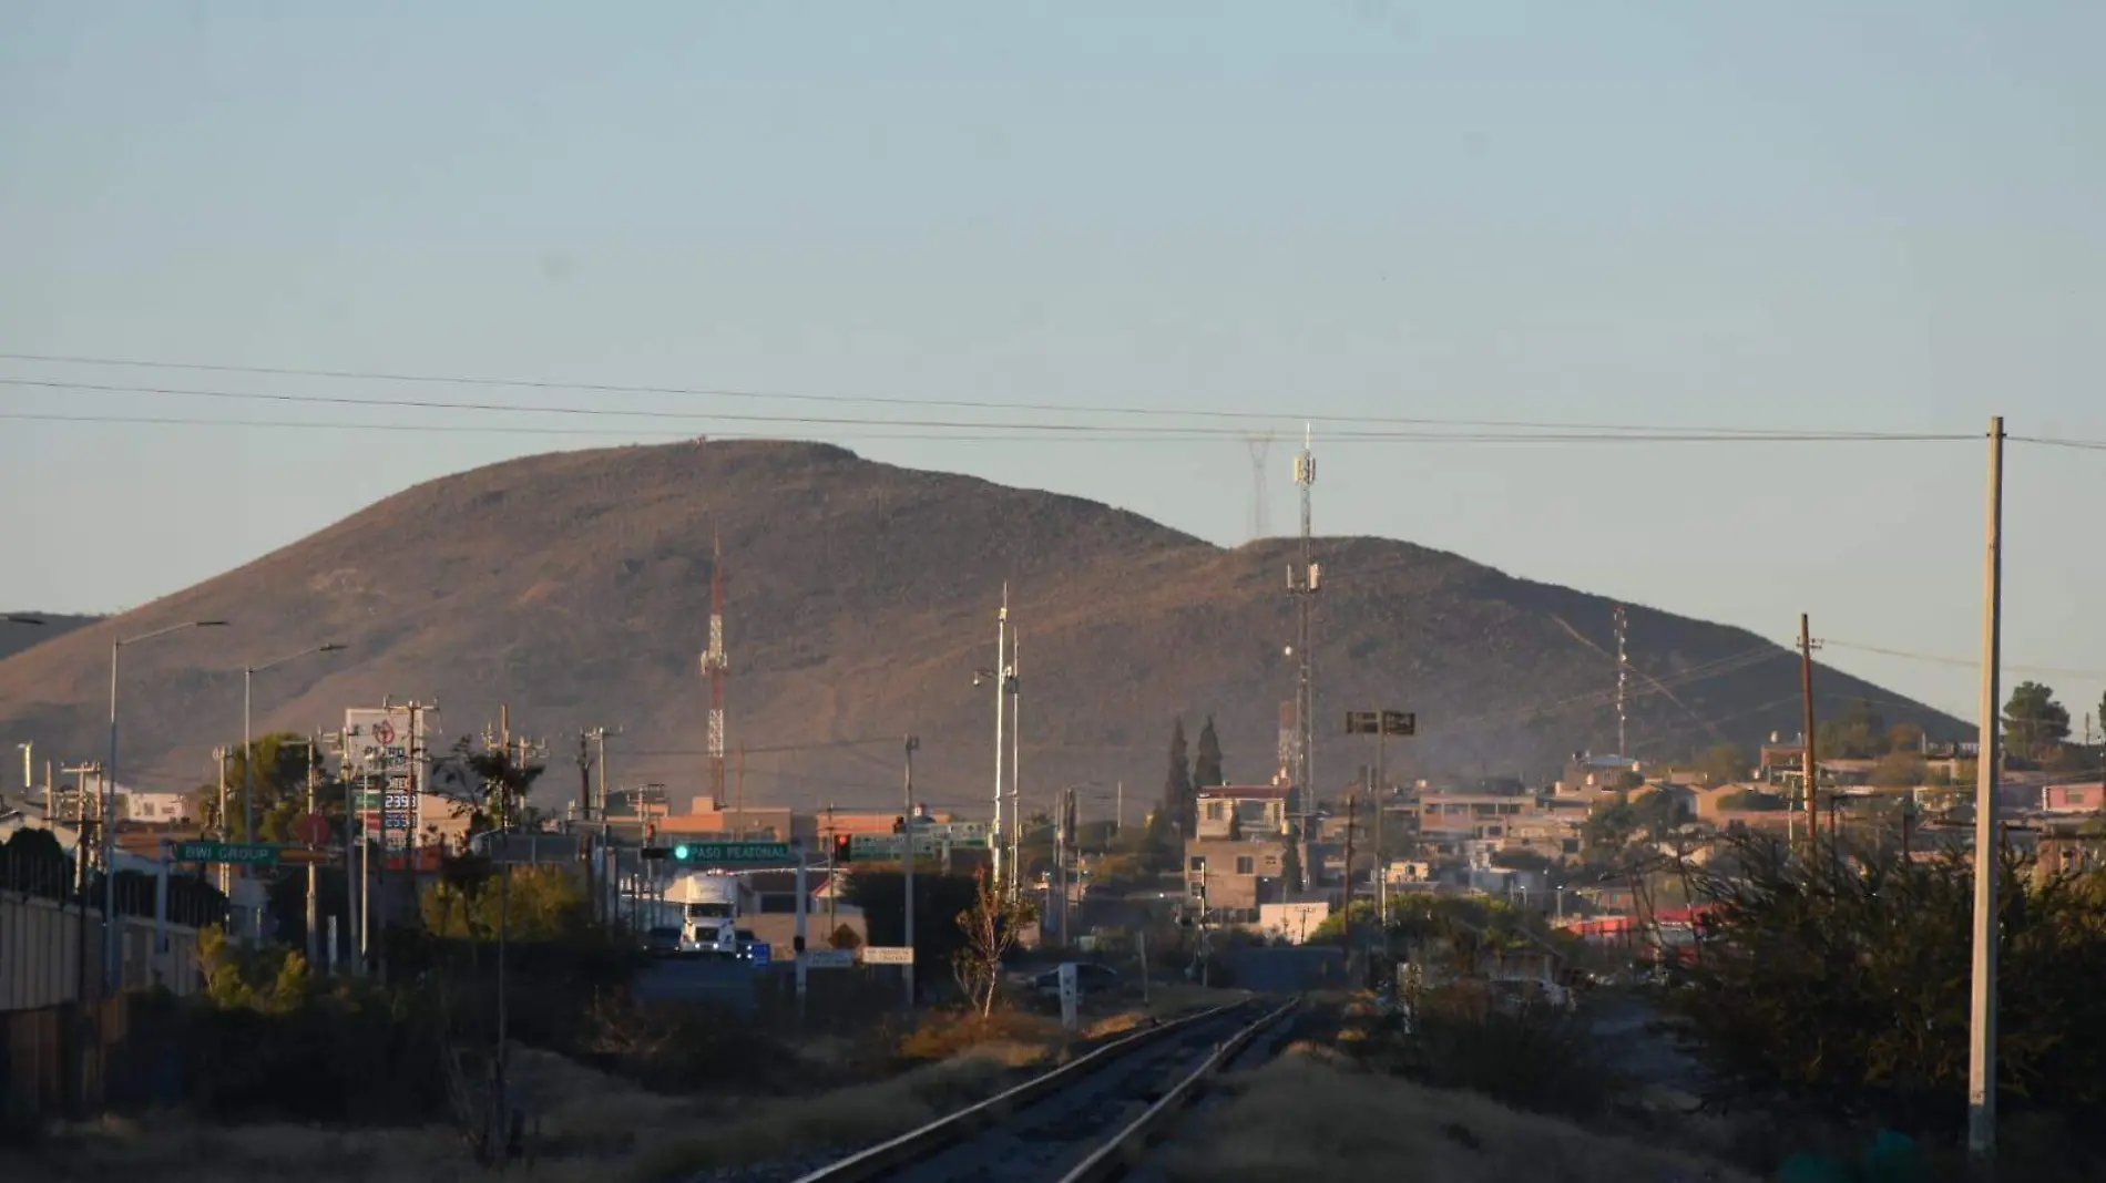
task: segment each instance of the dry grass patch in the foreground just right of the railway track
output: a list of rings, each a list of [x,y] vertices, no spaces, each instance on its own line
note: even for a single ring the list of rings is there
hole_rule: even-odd
[[[1506,1109],[1358,1074],[1335,1052],[1297,1044],[1232,1082],[1232,1097],[1169,1147],[1173,1179],[1394,1179],[1400,1183],[1754,1183],[1674,1149],[1592,1135]]]

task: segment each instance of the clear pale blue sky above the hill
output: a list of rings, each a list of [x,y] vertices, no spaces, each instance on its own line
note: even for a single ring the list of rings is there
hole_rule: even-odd
[[[2106,450],[2032,440],[2106,440],[2098,44],[2106,6],[2047,0],[17,0],[0,608],[697,434],[1236,545],[1259,501],[1293,528],[1312,423],[1318,535],[1809,613],[1971,718],[2003,415],[2005,684],[2083,716]]]

